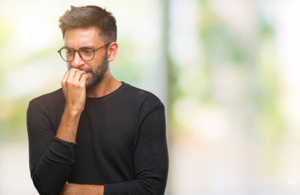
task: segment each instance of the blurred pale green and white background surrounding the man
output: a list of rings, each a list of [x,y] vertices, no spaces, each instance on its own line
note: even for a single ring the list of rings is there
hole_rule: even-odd
[[[0,194],[37,194],[26,109],[67,70],[58,18],[89,4],[116,17],[113,76],[165,104],[167,195],[300,193],[299,0],[1,0]]]

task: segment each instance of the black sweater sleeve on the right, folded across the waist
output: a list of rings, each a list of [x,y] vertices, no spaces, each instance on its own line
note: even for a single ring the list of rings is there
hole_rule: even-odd
[[[159,102],[140,116],[134,151],[136,180],[104,185],[104,195],[163,195],[168,177],[164,105]]]

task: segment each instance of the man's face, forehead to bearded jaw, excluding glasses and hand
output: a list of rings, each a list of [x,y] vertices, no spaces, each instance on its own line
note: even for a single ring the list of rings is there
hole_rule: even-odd
[[[82,47],[91,47],[98,49],[107,43],[99,37],[98,27],[75,28],[65,32],[64,42],[66,47],[80,49]],[[73,64],[73,66],[72,66]],[[91,61],[83,61],[78,52],[75,52],[73,61],[68,62],[68,67],[77,68],[87,72],[86,89],[89,89],[99,83],[108,69],[106,48],[95,51],[95,56]]]

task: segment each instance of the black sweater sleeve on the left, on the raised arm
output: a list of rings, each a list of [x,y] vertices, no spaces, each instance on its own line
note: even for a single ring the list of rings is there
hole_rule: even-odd
[[[57,195],[74,165],[76,144],[56,137],[46,106],[30,101],[26,122],[33,184],[41,195]]]

